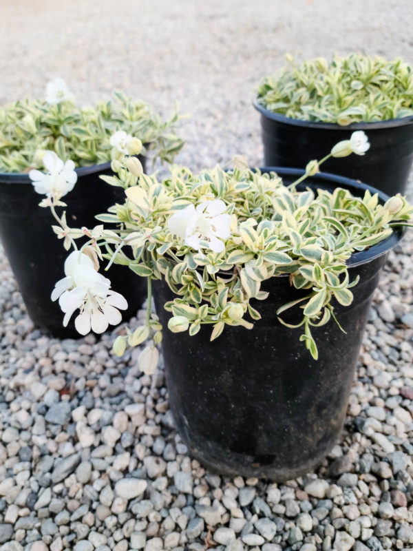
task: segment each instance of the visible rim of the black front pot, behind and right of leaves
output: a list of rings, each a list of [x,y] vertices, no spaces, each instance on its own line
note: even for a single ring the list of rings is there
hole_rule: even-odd
[[[288,168],[288,167],[260,167],[262,172],[276,172],[279,176],[296,176],[299,178],[305,174],[304,169],[299,168]],[[386,202],[389,199],[389,196],[383,191],[372,187],[372,185],[363,184],[358,180],[352,180],[351,178],[346,178],[346,176],[337,176],[337,174],[330,174],[329,172],[319,172],[315,176],[308,176],[308,181],[310,182],[313,178],[318,180],[326,180],[326,182],[334,182],[352,191],[352,189],[357,189],[361,192],[366,190],[370,191],[372,195],[378,194],[379,200],[381,202]],[[303,183],[305,185],[305,183]],[[347,265],[349,268],[360,266],[361,264],[366,264],[379,256],[383,256],[385,253],[388,253],[390,249],[395,247],[397,243],[401,240],[405,233],[405,227],[395,227],[392,231],[392,235],[388,238],[385,238],[383,241],[372,245],[364,251],[359,251],[357,253],[352,253],[352,256],[347,260]],[[286,274],[288,275],[288,274]]]

